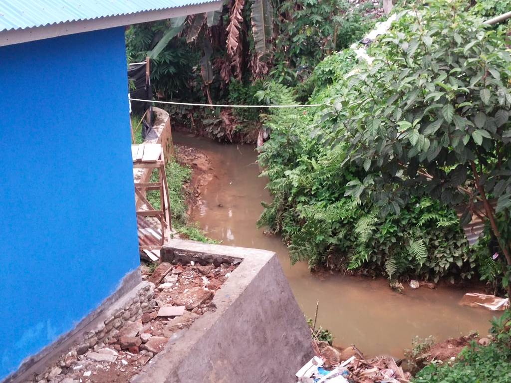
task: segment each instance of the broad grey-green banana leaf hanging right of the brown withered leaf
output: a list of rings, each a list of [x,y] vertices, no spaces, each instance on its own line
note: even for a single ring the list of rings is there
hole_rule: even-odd
[[[253,0],[252,2],[252,34],[255,51],[261,58],[271,51],[271,30],[273,28],[273,5],[271,0]]]

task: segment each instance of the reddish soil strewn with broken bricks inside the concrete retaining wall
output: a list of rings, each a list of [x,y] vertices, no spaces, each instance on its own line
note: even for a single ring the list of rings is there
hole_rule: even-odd
[[[35,376],[38,383],[126,383],[150,363],[160,352],[173,333],[188,328],[207,312],[214,311],[211,303],[215,292],[236,268],[222,264],[200,266],[194,264],[167,265],[156,278],[154,290],[157,306],[145,313],[142,319],[128,322],[108,345],[95,348],[84,355],[75,349],[62,357],[62,365],[54,367],[49,374]],[[154,280],[147,267],[143,278]],[[156,269],[155,274],[158,273]],[[184,306],[180,316],[161,316],[164,306]],[[158,315],[160,315],[158,317]]]

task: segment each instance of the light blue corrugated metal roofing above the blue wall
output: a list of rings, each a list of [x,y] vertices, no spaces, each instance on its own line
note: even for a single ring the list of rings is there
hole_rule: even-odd
[[[0,32],[212,3],[211,0],[0,0]]]

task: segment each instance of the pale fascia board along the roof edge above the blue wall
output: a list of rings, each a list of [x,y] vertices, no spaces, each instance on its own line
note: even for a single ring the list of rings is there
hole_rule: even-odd
[[[75,33],[98,31],[147,21],[164,20],[196,13],[218,11],[221,9],[222,4],[223,0],[214,0],[209,3],[191,4],[182,7],[99,17],[89,20],[66,21],[42,27],[2,31],[0,32],[0,46],[72,35]]]

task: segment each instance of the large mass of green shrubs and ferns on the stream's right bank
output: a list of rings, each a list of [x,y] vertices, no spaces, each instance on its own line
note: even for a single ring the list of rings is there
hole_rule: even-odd
[[[274,200],[260,224],[284,234],[294,260],[391,278],[495,280],[505,269],[484,241],[468,247],[448,207],[484,199],[486,182],[506,235],[509,55],[502,34],[464,11],[445,1],[406,9],[370,46],[372,65],[346,76],[355,62],[344,52],[317,66],[309,101],[330,106],[264,116]],[[276,84],[261,93],[294,98]]]

